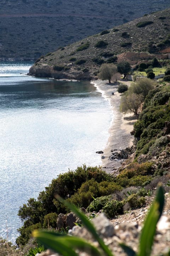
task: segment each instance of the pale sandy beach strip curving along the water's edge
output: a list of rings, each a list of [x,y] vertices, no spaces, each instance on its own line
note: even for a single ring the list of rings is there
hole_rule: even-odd
[[[120,81],[121,83],[125,83],[130,85],[129,81]],[[109,128],[109,138],[106,144],[106,147],[102,150],[104,153],[101,154],[105,156],[102,159],[102,167],[106,172],[115,172],[118,167],[120,167],[120,161],[111,161],[108,157],[112,154],[112,151],[120,151],[120,149],[125,149],[129,146],[133,145],[134,136],[130,134],[130,132],[134,128],[134,123],[136,122],[136,117],[133,113],[122,114],[119,111],[120,106],[120,97],[121,94],[117,91],[118,85],[108,84],[108,81],[92,81],[97,90],[100,91],[109,103],[111,104],[111,110],[113,112],[113,119],[111,122],[111,127]],[[112,95],[114,92],[114,95]]]

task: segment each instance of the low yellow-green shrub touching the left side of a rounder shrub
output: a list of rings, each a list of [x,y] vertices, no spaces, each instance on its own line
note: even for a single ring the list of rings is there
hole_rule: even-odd
[[[98,197],[91,202],[91,204],[87,207],[87,212],[98,212],[103,209],[104,206],[111,200],[111,195]]]

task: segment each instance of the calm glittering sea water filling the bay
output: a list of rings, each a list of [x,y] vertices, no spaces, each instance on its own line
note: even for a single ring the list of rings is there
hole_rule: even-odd
[[[0,63],[0,236],[15,242],[19,206],[58,174],[101,164],[109,103],[90,82],[33,78],[32,63]]]

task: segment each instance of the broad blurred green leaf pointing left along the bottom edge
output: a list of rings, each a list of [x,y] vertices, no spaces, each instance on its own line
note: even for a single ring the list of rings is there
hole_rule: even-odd
[[[60,253],[63,256],[78,256],[73,249],[86,251],[94,256],[101,256],[101,253],[96,247],[92,246],[84,239],[75,236],[58,235],[58,233],[55,232],[40,230],[34,230],[33,236],[46,247]]]

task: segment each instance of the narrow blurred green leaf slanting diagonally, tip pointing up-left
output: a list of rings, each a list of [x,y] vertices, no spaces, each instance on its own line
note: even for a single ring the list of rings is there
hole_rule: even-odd
[[[70,208],[70,210],[72,210],[82,221],[83,225],[87,228],[87,230],[89,230],[89,232],[93,235],[93,237],[98,241],[98,243],[101,246],[101,249],[104,251],[104,253],[107,256],[114,256],[111,252],[111,250],[109,250],[109,248],[104,244],[103,240],[100,238],[100,236],[97,234],[96,229],[94,227],[94,225],[87,219],[87,217],[81,213],[75,206],[74,204],[70,204],[69,202],[65,201],[63,198],[61,198],[60,196],[56,196],[56,198],[62,202],[65,206],[67,206],[68,208]]]

